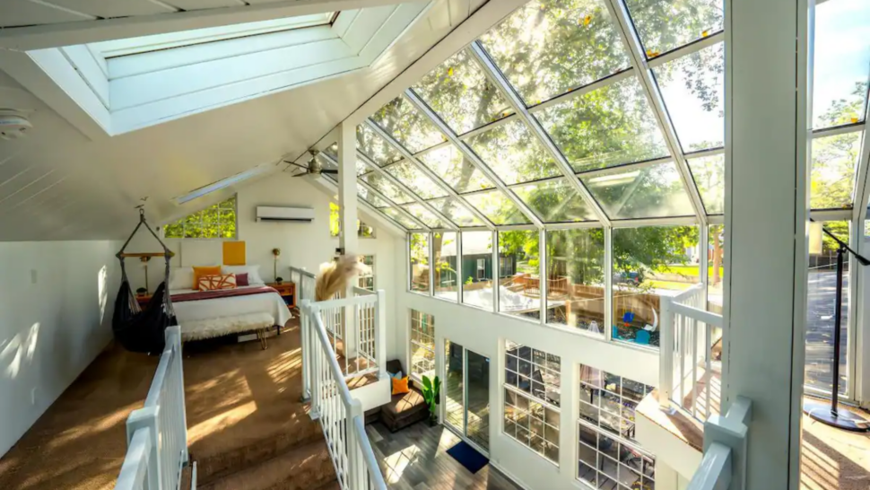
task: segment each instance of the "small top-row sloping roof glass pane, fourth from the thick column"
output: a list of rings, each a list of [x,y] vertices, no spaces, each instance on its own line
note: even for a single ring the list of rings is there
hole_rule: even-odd
[[[371,115],[371,120],[411,153],[421,152],[445,140],[438,128],[402,96],[378,109]]]

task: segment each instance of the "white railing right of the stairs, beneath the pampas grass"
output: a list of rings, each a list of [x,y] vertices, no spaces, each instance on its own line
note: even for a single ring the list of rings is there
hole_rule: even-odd
[[[361,403],[351,397],[336,360],[335,337],[330,338],[324,319],[334,317],[336,309],[372,308],[376,350],[384,353],[384,305],[383,291],[327,302],[303,300],[301,305],[303,396],[311,400],[311,416],[320,422],[343,490],[386,490],[387,484],[366,435]],[[378,361],[376,369],[386,370],[382,360]]]

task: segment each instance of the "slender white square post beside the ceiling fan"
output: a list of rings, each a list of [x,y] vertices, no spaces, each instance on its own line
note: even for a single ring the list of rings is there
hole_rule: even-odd
[[[344,255],[359,253],[356,232],[356,127],[346,121],[338,127],[338,206],[342,232],[338,246]],[[355,280],[355,279],[354,279]],[[346,298],[353,297],[353,280],[347,284]],[[356,309],[344,307],[344,356],[350,361],[357,351]]]

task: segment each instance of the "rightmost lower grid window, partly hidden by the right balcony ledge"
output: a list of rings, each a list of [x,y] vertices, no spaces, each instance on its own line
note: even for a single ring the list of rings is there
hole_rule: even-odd
[[[655,488],[656,459],[634,440],[635,409],[653,387],[580,364],[577,477],[596,488]]]

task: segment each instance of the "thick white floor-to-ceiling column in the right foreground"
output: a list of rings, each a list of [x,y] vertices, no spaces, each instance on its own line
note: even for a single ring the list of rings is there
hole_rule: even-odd
[[[753,401],[747,488],[799,486],[811,4],[726,2],[723,413]]]

